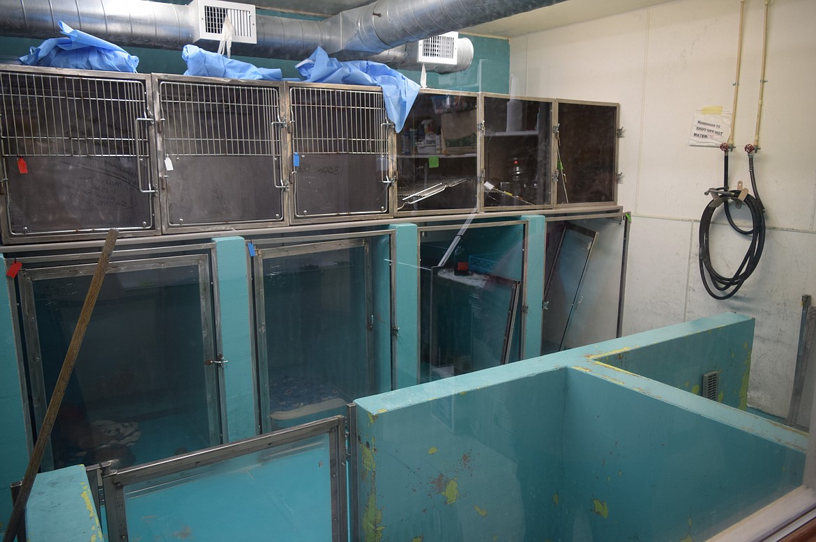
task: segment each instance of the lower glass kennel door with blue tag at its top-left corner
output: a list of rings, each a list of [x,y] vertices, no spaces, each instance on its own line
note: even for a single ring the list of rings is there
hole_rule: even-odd
[[[344,412],[378,384],[369,240],[259,249],[256,319],[264,429]],[[386,317],[386,319],[389,319]]]

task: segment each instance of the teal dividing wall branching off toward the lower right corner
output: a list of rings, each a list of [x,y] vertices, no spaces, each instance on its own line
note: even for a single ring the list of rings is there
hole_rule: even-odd
[[[706,540],[801,483],[798,431],[609,368],[566,371],[563,540]]]

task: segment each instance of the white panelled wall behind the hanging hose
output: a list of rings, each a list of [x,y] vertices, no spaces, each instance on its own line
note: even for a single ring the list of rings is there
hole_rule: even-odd
[[[816,296],[816,2],[769,5],[756,177],[769,225],[765,253],[737,295],[716,301],[698,271],[703,192],[722,183],[723,153],[687,144],[695,109],[731,109],[739,0],[677,0],[512,38],[522,94],[619,102],[619,202],[632,211],[624,333],[738,311],[756,318],[749,404],[787,415],[802,294]],[[748,184],[756,127],[764,2],[745,2],[743,66],[730,183]],[[514,89],[516,90],[516,89]],[[712,227],[712,262],[730,271],[747,242]],[[603,311],[611,317],[616,297]],[[598,307],[596,307],[596,310]],[[605,338],[605,337],[603,337]]]

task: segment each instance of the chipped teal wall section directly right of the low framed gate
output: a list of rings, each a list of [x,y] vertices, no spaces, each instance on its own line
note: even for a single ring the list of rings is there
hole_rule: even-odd
[[[561,479],[565,376],[461,391],[446,379],[361,399],[361,540],[524,540],[528,526],[556,531],[557,513],[542,511]],[[411,404],[392,408],[400,398]]]

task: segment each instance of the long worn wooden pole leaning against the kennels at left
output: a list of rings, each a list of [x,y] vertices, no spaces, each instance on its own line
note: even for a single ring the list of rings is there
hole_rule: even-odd
[[[42,455],[46,451],[48,438],[51,436],[51,430],[54,429],[54,422],[56,421],[57,412],[60,412],[62,398],[65,395],[65,389],[68,387],[68,381],[73,372],[73,366],[77,362],[77,355],[79,354],[79,347],[82,346],[82,339],[85,337],[85,332],[88,328],[88,323],[91,321],[91,313],[94,311],[96,305],[96,298],[99,297],[100,289],[102,288],[102,280],[104,280],[105,271],[108,269],[108,262],[110,261],[111,253],[113,253],[113,246],[116,245],[116,237],[118,231],[110,229],[108,236],[105,238],[102,246],[102,253],[100,254],[100,261],[96,264],[94,276],[91,279],[91,286],[88,288],[88,293],[85,296],[85,304],[82,305],[82,311],[79,313],[77,327],[73,328],[73,337],[68,346],[68,352],[65,353],[65,359],[62,362],[62,370],[60,376],[57,377],[56,385],[54,386],[54,393],[51,394],[51,400],[48,402],[45,419],[42,421],[40,432],[37,436],[37,442],[34,443],[34,450],[29,459],[29,468],[25,470],[23,482],[20,484],[20,493],[14,502],[14,509],[11,510],[11,518],[8,520],[8,526],[5,535],[3,535],[3,542],[12,542],[16,536],[17,531],[20,530],[20,522],[23,519],[25,512],[25,505],[31,495],[31,489],[34,485],[34,478],[37,476],[37,471],[40,469],[40,462]]]

